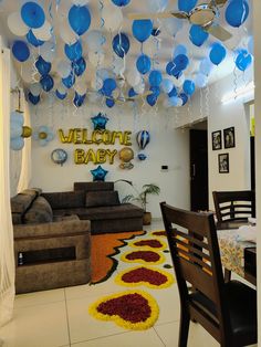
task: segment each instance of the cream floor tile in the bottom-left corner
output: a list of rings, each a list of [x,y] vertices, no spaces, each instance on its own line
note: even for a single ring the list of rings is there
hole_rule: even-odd
[[[65,303],[14,309],[13,319],[0,329],[3,347],[66,346],[69,332]]]

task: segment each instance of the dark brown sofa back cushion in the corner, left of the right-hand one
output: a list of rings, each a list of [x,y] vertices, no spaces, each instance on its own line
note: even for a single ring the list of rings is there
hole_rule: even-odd
[[[62,191],[62,192],[44,192],[42,193],[52,209],[75,209],[85,206],[84,191]]]

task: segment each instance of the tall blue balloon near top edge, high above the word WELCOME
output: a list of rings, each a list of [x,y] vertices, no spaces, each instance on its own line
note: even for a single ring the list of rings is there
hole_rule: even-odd
[[[84,34],[91,24],[91,14],[86,6],[73,6],[69,11],[69,23],[80,36]]]

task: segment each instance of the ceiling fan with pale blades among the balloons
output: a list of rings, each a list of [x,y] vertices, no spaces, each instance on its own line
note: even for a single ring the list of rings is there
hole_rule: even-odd
[[[217,23],[219,17],[219,8],[223,7],[228,0],[211,0],[196,6],[190,12],[158,12],[158,13],[129,13],[130,20],[140,19],[166,19],[178,18],[187,19],[191,24],[200,25],[205,31],[209,32],[220,41],[229,40],[232,34]]]

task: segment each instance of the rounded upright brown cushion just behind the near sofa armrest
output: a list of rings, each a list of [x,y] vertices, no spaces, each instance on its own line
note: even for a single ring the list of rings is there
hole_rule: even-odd
[[[23,217],[23,222],[25,224],[46,223],[52,220],[52,208],[43,197],[38,197]]]

